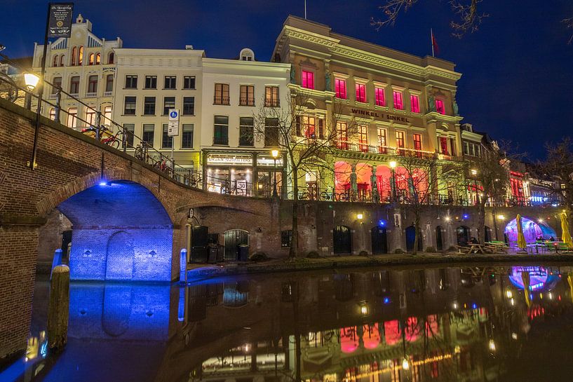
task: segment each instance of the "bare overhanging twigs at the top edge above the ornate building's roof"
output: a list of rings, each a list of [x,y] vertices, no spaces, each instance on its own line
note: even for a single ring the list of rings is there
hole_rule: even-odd
[[[400,12],[408,11],[417,2],[418,0],[386,0],[384,5],[379,6],[385,18],[382,20],[372,18],[370,23],[374,25],[377,30],[386,25],[395,25]],[[448,0],[447,2],[450,4],[452,11],[457,15],[457,20],[452,20],[450,27],[452,27],[454,31],[452,34],[458,38],[461,38],[461,36],[464,36],[467,32],[476,32],[483,18],[489,16],[487,13],[479,11],[479,4],[482,0]]]

